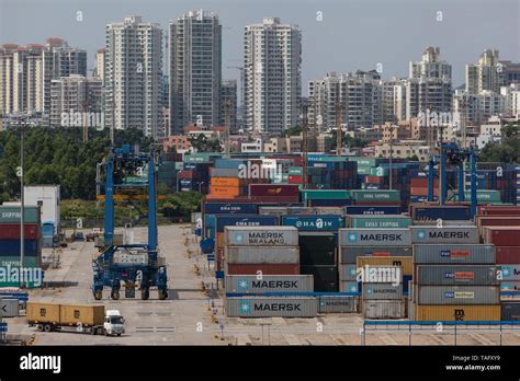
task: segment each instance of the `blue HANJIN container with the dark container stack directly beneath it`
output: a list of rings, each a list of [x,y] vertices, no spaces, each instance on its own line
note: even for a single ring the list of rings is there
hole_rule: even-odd
[[[338,292],[337,235],[343,228],[338,215],[284,216],[283,226],[298,230],[301,273],[314,276],[316,292]]]

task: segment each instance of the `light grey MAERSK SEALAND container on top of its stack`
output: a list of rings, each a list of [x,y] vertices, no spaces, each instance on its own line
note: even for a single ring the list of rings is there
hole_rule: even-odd
[[[294,227],[225,227],[227,246],[297,246],[298,230]]]

